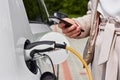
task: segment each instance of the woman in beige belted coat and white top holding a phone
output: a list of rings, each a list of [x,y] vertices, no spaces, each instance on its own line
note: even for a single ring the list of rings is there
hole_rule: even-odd
[[[87,15],[65,20],[73,24],[69,28],[59,24],[66,36],[90,36],[89,48],[95,44],[94,58],[88,61],[93,80],[120,80],[120,0],[90,0]]]

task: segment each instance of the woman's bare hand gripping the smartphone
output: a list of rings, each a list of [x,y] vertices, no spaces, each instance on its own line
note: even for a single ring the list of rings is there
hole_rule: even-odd
[[[64,18],[64,20],[71,23],[72,26],[65,27],[64,23],[62,23],[62,22],[59,23],[58,26],[62,29],[62,32],[70,38],[77,38],[77,36],[81,34],[81,26],[78,25],[78,23],[76,23],[72,19]]]

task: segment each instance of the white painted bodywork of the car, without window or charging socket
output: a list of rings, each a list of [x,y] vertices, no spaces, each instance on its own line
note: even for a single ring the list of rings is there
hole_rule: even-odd
[[[24,43],[49,31],[48,24],[29,22],[23,0],[0,0],[0,80],[40,80],[26,66]]]

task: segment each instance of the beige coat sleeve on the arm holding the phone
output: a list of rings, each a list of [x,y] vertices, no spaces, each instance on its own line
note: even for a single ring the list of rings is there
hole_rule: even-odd
[[[81,32],[81,34],[79,36],[77,36],[76,38],[85,38],[85,37],[89,36],[90,23],[91,23],[91,9],[92,9],[91,1],[89,1],[87,14],[82,17],[73,18],[76,22],[78,22],[80,24],[82,29],[85,30],[84,32]]]

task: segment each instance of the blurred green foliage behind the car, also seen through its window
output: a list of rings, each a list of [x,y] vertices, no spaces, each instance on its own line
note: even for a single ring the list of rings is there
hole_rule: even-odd
[[[53,12],[63,12],[68,17],[78,17],[86,14],[88,0],[44,0],[48,12],[52,15]],[[25,7],[29,19],[33,19],[39,14],[38,7],[36,7],[36,0],[24,0]],[[31,6],[29,6],[31,5]],[[41,6],[42,7],[42,6]]]

